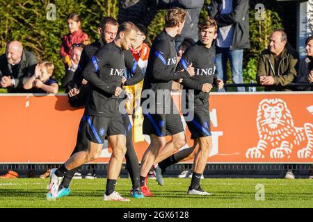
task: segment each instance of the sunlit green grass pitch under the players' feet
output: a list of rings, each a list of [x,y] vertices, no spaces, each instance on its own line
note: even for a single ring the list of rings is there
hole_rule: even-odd
[[[212,196],[187,196],[191,179],[165,178],[163,187],[149,179],[153,197],[130,198],[129,202],[102,200],[106,179],[73,180],[70,196],[46,199],[49,178],[0,179],[1,207],[104,207],[104,208],[214,208],[214,207],[313,207],[313,180],[309,179],[213,179],[201,180],[201,187]],[[259,195],[264,186],[264,200]],[[261,188],[260,188],[261,187]],[[129,197],[131,180],[120,178],[116,185]],[[257,194],[257,195],[256,195]],[[256,196],[258,199],[256,200]]]

